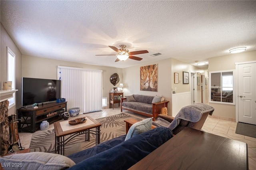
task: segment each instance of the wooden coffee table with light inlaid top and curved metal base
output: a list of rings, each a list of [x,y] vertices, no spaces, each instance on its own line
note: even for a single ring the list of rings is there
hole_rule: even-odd
[[[75,118],[74,118],[75,119]],[[64,155],[64,146],[65,144],[70,141],[72,138],[80,135],[85,134],[85,141],[90,141],[90,133],[96,135],[96,145],[100,143],[100,126],[101,123],[92,119],[90,116],[86,116],[87,121],[85,123],[80,123],[78,125],[69,125],[68,121],[59,121],[54,122],[54,130],[55,130],[55,153]],[[92,130],[95,128],[95,130]],[[68,138],[65,139],[65,136]]]

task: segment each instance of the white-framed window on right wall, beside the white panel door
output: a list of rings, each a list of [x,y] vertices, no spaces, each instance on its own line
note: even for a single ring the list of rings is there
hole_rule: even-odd
[[[211,91],[209,100],[212,103],[234,104],[234,71],[216,71],[209,73]]]

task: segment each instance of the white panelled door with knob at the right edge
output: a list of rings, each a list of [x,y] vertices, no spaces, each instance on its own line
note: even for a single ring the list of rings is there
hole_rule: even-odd
[[[238,65],[238,122],[256,125],[256,63]]]

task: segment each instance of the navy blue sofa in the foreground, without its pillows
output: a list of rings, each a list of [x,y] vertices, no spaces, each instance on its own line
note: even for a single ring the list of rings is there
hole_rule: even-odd
[[[125,134],[67,156],[76,163],[69,169],[128,169],[164,144],[172,136],[172,131],[166,127],[157,127],[124,141]]]

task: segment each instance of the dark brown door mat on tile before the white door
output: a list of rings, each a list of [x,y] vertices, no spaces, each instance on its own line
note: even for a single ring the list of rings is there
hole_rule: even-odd
[[[236,125],[236,133],[256,138],[256,125],[238,122]]]

